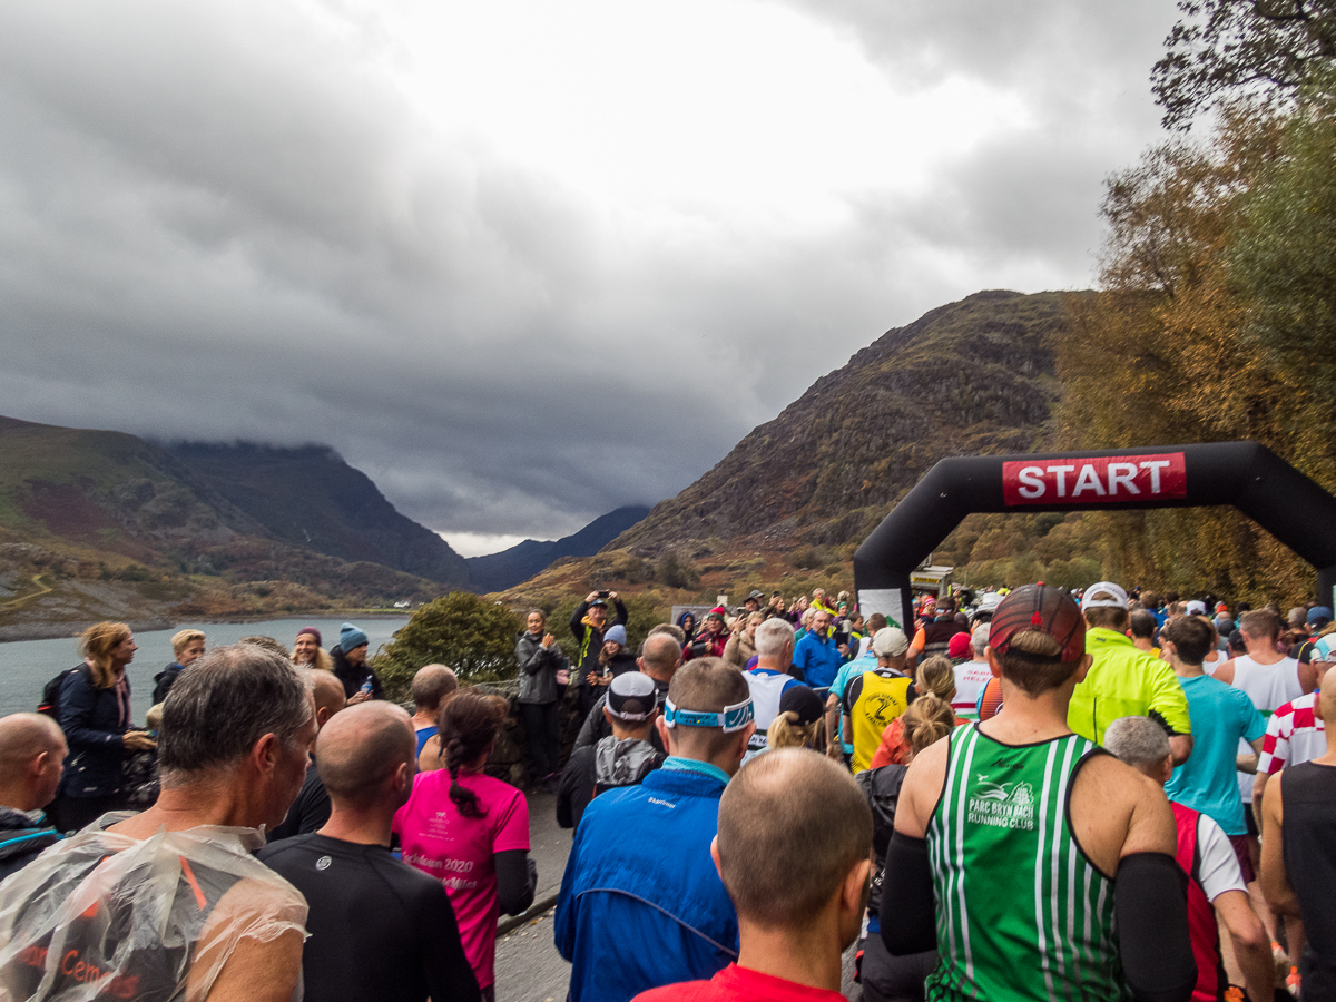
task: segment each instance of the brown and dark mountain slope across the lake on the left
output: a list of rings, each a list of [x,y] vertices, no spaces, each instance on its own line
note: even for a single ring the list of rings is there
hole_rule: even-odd
[[[285,462],[285,452],[297,456]],[[135,436],[0,418],[0,639],[99,619],[385,605],[466,585],[462,557],[440,537],[315,453],[257,450],[265,462],[246,469],[244,450],[223,446],[202,470],[198,456]],[[285,508],[294,469],[327,493]],[[285,512],[319,545],[285,532]]]

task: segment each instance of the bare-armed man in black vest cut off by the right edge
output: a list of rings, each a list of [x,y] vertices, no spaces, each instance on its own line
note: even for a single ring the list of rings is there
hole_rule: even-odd
[[[1315,712],[1336,716],[1336,669],[1321,680]],[[1263,804],[1261,888],[1279,915],[1304,923],[1301,997],[1336,998],[1336,731],[1327,751],[1281,770]]]

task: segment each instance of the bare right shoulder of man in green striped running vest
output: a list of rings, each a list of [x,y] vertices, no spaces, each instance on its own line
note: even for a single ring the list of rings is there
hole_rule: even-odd
[[[1133,852],[1174,852],[1173,811],[1164,790],[1112,755],[1092,755],[1077,772],[1070,822],[1077,844],[1106,876]]]

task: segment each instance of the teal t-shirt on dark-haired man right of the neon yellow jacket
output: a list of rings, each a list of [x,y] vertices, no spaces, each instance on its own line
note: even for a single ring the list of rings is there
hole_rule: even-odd
[[[1178,679],[1178,684],[1188,696],[1192,716],[1192,755],[1173,771],[1165,794],[1170,800],[1201,811],[1224,828],[1225,835],[1242,835],[1248,826],[1234,768],[1238,739],[1256,741],[1267,733],[1267,721],[1246,692],[1209,675]]]

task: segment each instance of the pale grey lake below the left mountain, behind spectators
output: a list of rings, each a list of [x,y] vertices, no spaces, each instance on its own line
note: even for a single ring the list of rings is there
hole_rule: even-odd
[[[366,616],[353,620],[371,641],[374,655],[382,644],[390,641],[394,632],[409,621],[407,616]],[[302,627],[315,627],[321,632],[325,648],[338,643],[338,631],[345,620],[285,619],[263,623],[182,623],[174,629],[155,629],[135,633],[139,649],[126,673],[130,676],[130,696],[135,720],[143,723],[154,695],[154,676],[171,664],[171,639],[180,629],[199,629],[204,633],[207,647],[235,644],[242,637],[266,635],[291,648],[297,631]],[[0,716],[36,709],[41,699],[41,687],[61,668],[79,664],[79,640],[61,637],[57,640],[13,640],[0,644]]]

